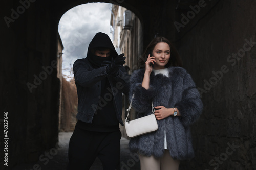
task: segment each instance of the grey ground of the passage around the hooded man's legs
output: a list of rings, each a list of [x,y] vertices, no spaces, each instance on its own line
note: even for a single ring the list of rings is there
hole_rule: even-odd
[[[68,147],[69,147],[69,139],[73,132],[60,132],[59,133],[59,148],[57,150],[57,154],[49,157],[52,159],[48,159],[44,157],[44,161],[38,161],[37,163],[31,164],[22,164],[12,168],[12,170],[32,170],[32,169],[40,169],[40,170],[65,170],[68,164]],[[137,154],[131,153],[128,149],[129,140],[125,138],[121,138],[121,153],[120,153],[120,163],[121,170],[138,170],[140,169],[139,157]],[[36,165],[38,164],[38,165]],[[100,160],[97,158],[90,168],[90,170],[101,170],[102,164]],[[74,169],[75,170],[75,169]]]

